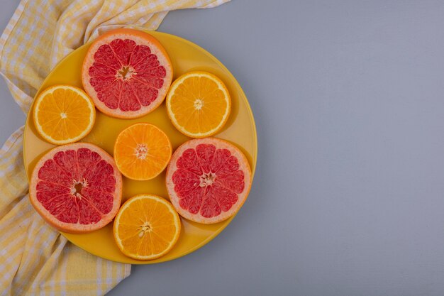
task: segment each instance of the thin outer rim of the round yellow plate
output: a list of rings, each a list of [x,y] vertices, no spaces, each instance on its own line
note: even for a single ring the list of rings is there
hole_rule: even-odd
[[[245,98],[245,103],[246,103],[246,106],[247,106],[247,111],[248,111],[250,123],[252,124],[253,138],[254,138],[255,146],[252,149],[253,153],[252,153],[251,180],[252,180],[252,182],[254,182],[254,176],[255,176],[255,171],[256,171],[256,167],[257,167],[257,129],[256,129],[256,124],[255,124],[255,117],[254,117],[254,115],[252,113],[252,109],[251,109],[251,106],[250,106],[250,102],[248,101],[248,97],[245,95],[245,92],[243,91],[243,88],[240,86],[238,80],[235,78],[233,73],[231,73],[231,71],[228,70],[228,68],[225,65],[223,65],[223,63],[220,60],[218,60],[217,57],[215,57],[213,54],[211,54],[208,50],[206,50],[205,48],[202,48],[200,45],[197,45],[196,43],[194,43],[194,42],[192,42],[190,40],[187,40],[186,38],[182,38],[182,37],[180,37],[178,35],[173,35],[173,34],[161,32],[161,31],[149,31],[149,30],[145,30],[143,28],[134,28],[134,29],[135,30],[139,30],[139,31],[145,31],[146,33],[154,35],[155,38],[156,38],[156,35],[165,35],[168,38],[173,38],[173,39],[177,39],[177,40],[179,40],[181,42],[188,43],[188,45],[191,45],[193,48],[201,50],[205,55],[208,55],[209,57],[211,57],[216,62],[216,64],[219,67],[221,67],[221,69],[223,69],[224,71],[228,72],[228,74],[231,75],[231,77],[234,78],[235,87],[237,87],[240,90],[240,93]],[[76,53],[77,50],[80,50],[81,48],[85,48],[85,47],[91,45],[92,42],[94,42],[94,40],[91,40],[89,43],[85,43],[85,44],[79,46],[78,48],[76,48],[75,50],[72,50],[72,52],[69,53],[68,55],[66,55],[65,57],[63,57],[62,60],[60,60],[60,62],[57,62],[57,65],[55,65],[55,67],[53,67],[52,70],[48,73],[48,75],[45,77],[45,80],[43,80],[43,82],[40,84],[40,87],[38,88],[37,92],[35,93],[35,96],[33,97],[33,101],[30,104],[30,108],[28,110],[28,113],[26,114],[25,128],[24,128],[24,131],[23,131],[23,165],[25,166],[26,179],[28,180],[28,184],[30,182],[30,179],[29,179],[28,165],[26,165],[27,162],[26,162],[26,153],[25,153],[26,130],[27,130],[26,126],[28,126],[30,124],[30,122],[29,122],[30,121],[30,114],[33,111],[35,97],[37,97],[37,95],[40,94],[40,92],[42,92],[42,90],[43,90],[42,86],[48,81],[48,79],[51,76],[52,72],[54,72],[58,67],[60,67],[62,62],[67,60],[71,55],[74,55],[74,53]],[[217,135],[215,135],[215,136],[217,137]],[[250,193],[248,195],[250,195]],[[60,234],[62,234],[62,236],[65,236],[65,238],[68,241],[70,241],[72,244],[74,244],[74,246],[77,246],[78,248],[81,248],[82,250],[86,251],[87,253],[91,253],[94,256],[98,256],[100,258],[104,258],[104,259],[109,260],[109,261],[118,262],[118,263],[125,263],[125,264],[136,264],[136,265],[158,264],[158,263],[165,263],[165,262],[168,262],[168,261],[173,261],[173,260],[178,259],[178,258],[182,258],[184,256],[187,256],[189,253],[192,253],[192,252],[198,250],[199,248],[202,248],[207,243],[209,243],[210,241],[215,239],[216,236],[221,234],[221,232],[224,229],[226,229],[229,224],[231,224],[231,221],[234,219],[235,216],[237,216],[238,212],[226,220],[226,222],[228,222],[228,223],[226,223],[225,226],[223,226],[221,229],[217,229],[216,231],[214,231],[210,236],[207,236],[207,238],[204,241],[201,241],[201,243],[198,243],[194,247],[189,248],[186,252],[182,253],[180,256],[177,256],[175,258],[170,258],[170,259],[167,259],[167,260],[164,260],[164,261],[162,261],[162,257],[158,258],[156,261],[135,261],[134,259],[131,259],[131,258],[128,258],[128,260],[131,260],[131,263],[130,262],[116,261],[116,260],[113,260],[113,258],[106,258],[102,254],[85,250],[84,248],[82,248],[81,246],[78,246],[76,243],[74,243],[71,240],[70,234],[67,234],[67,233],[62,232],[62,231],[58,231],[57,229],[55,229],[55,230],[57,232],[59,232]],[[135,261],[135,262],[133,262],[133,261]]]

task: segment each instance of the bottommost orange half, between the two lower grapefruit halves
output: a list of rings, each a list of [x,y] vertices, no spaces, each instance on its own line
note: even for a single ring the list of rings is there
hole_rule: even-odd
[[[137,260],[159,258],[179,239],[179,215],[162,197],[136,195],[118,211],[113,234],[118,248],[126,256]]]

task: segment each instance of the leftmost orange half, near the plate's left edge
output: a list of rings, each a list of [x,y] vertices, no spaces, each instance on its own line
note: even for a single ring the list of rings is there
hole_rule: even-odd
[[[62,145],[79,141],[91,131],[96,109],[87,94],[77,87],[48,87],[35,99],[34,125],[46,141]]]

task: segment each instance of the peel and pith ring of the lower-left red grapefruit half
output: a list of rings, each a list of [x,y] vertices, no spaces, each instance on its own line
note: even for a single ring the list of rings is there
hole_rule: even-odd
[[[102,216],[101,220],[96,224],[79,224],[79,223],[72,224],[72,223],[62,222],[57,218],[55,218],[55,216],[53,216],[47,209],[45,209],[45,207],[43,207],[43,205],[37,199],[36,186],[38,184],[38,181],[40,180],[38,178],[38,171],[43,166],[45,161],[52,159],[55,153],[59,151],[78,150],[79,148],[88,148],[89,150],[98,153],[101,159],[106,160],[106,162],[113,167],[114,177],[116,178],[116,190],[114,191],[113,194],[114,197],[113,207],[111,211],[108,214]],[[34,209],[38,212],[38,214],[40,214],[40,216],[42,216],[42,218],[48,224],[50,224],[50,226],[62,232],[67,232],[71,234],[84,234],[87,232],[103,228],[104,226],[106,226],[106,224],[109,224],[109,222],[113,220],[114,216],[116,216],[118,209],[121,205],[121,199],[122,199],[122,176],[118,168],[116,167],[116,164],[114,163],[114,160],[111,157],[111,155],[106,153],[105,150],[99,148],[98,146],[95,146],[94,144],[72,143],[64,146],[57,146],[49,150],[48,153],[43,155],[43,157],[40,158],[38,163],[35,164],[29,183],[29,199]]]

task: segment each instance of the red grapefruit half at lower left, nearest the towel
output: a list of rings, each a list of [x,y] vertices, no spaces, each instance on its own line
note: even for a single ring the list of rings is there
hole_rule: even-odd
[[[122,176],[111,155],[93,144],[57,146],[35,165],[29,197],[40,216],[55,229],[94,231],[116,216]]]

